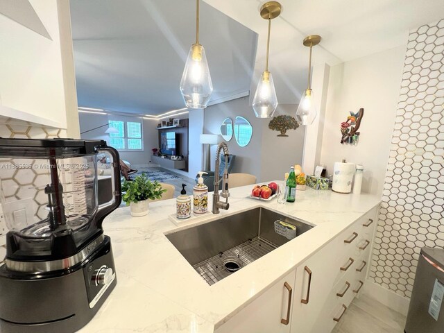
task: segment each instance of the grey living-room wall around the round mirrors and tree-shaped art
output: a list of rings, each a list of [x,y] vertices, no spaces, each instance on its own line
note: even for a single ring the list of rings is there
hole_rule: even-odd
[[[275,112],[293,114],[296,105],[280,105]],[[233,121],[242,116],[253,126],[253,137],[246,147],[240,147],[234,137],[228,142],[230,153],[236,155],[233,173],[251,173],[257,177],[257,182],[283,179],[291,164],[300,164],[304,129],[288,130],[289,137],[277,137],[278,132],[270,130],[268,123],[271,119],[255,117],[253,108],[248,103],[248,96],[225,103],[209,106],[205,109],[205,133],[220,134],[223,119],[230,117]],[[294,111],[296,112],[296,111]],[[212,146],[212,170],[216,146]]]

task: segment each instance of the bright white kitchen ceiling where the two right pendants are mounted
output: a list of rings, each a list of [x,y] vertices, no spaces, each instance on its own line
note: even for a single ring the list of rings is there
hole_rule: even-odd
[[[264,71],[263,0],[203,0],[259,34],[255,78]],[[313,63],[336,65],[407,44],[409,30],[444,17],[444,0],[279,0],[271,23],[269,70],[279,103],[298,103],[307,85],[307,35],[321,35]],[[365,78],[363,78],[365,79]],[[252,88],[253,90],[253,88]]]

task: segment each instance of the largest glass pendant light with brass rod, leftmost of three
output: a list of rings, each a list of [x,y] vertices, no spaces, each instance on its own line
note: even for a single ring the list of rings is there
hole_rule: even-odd
[[[191,109],[206,108],[213,92],[205,49],[199,44],[199,0],[196,0],[196,43],[191,45],[188,53],[180,80],[180,92],[187,108]]]

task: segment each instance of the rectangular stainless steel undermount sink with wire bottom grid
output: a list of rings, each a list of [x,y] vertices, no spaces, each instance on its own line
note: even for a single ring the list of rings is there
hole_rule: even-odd
[[[211,285],[287,243],[289,239],[275,233],[277,220],[296,225],[296,237],[313,228],[257,207],[165,236]]]

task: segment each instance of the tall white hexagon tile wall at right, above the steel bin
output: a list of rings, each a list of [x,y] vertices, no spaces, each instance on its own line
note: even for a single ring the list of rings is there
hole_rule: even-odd
[[[370,280],[411,296],[423,246],[444,247],[444,19],[411,31]]]

